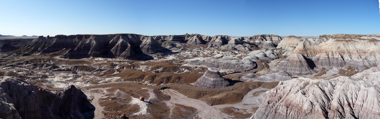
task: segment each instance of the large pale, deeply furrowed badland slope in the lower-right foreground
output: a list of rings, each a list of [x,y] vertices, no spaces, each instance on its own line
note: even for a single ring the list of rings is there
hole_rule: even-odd
[[[330,80],[300,77],[280,81],[266,92],[251,119],[377,119],[379,76],[378,70],[371,69]]]

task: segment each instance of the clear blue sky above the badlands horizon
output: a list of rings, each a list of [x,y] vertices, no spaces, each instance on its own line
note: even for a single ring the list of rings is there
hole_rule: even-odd
[[[0,34],[379,34],[378,5],[378,0],[0,0]]]

